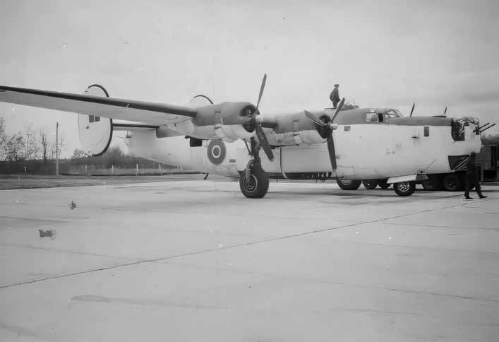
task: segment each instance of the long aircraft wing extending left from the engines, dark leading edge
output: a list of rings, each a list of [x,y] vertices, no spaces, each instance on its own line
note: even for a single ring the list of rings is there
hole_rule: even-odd
[[[0,102],[97,115],[155,126],[181,122],[189,117],[196,117],[197,114],[191,107],[178,105],[6,86],[0,86]]]

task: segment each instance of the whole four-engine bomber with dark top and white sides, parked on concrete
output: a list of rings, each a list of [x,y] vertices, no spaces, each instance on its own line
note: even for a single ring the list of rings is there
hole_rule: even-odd
[[[213,102],[197,95],[188,105],[109,98],[102,86],[71,94],[0,86],[0,101],[78,113],[80,142],[104,153],[114,130],[128,131],[129,151],[160,163],[239,177],[242,193],[265,196],[269,174],[334,175],[342,189],[361,179],[394,184],[400,196],[416,180],[452,172],[479,153],[479,122],[471,117],[403,117],[392,108],[354,108],[260,115],[258,102]],[[115,122],[113,122],[115,120]],[[133,124],[118,124],[126,120]],[[260,153],[263,151],[263,153]]]

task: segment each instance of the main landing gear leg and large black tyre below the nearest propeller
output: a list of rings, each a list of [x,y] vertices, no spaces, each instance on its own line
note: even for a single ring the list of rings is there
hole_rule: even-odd
[[[262,169],[258,151],[260,151],[260,145],[256,143],[254,138],[251,138],[250,155],[253,156],[253,159],[248,162],[246,169],[241,172],[239,177],[241,192],[248,199],[261,199],[268,191],[269,179]]]

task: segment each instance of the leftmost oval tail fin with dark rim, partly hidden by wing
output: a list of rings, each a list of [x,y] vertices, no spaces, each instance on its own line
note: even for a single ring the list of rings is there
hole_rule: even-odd
[[[109,98],[104,87],[92,84],[85,90],[86,95]],[[83,150],[93,156],[102,155],[109,148],[113,137],[113,121],[107,117],[78,114],[78,134]]]

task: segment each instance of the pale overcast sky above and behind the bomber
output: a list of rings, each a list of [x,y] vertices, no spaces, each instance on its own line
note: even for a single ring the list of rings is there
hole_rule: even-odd
[[[182,105],[258,97],[261,112],[361,107],[499,117],[499,1],[0,1],[0,84]],[[0,103],[13,133],[76,114]]]

